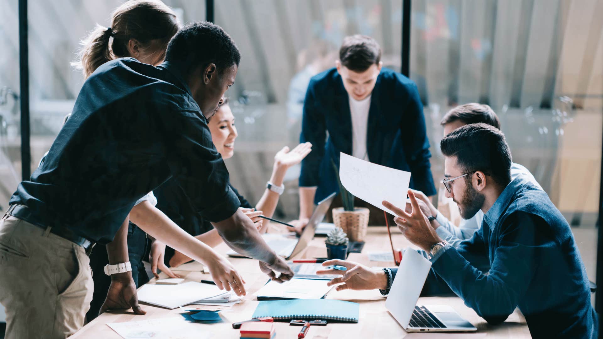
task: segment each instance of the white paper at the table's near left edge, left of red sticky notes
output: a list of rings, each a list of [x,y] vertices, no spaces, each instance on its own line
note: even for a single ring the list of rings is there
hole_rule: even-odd
[[[140,338],[210,338],[213,336],[209,327],[187,322],[183,317],[169,317],[140,320],[139,322],[107,324],[124,339]]]

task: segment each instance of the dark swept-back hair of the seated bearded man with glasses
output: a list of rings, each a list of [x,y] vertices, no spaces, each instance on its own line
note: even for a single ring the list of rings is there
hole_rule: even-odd
[[[505,135],[492,125],[459,127],[440,141],[440,149],[444,156],[456,156],[463,174],[482,171],[502,187],[511,182],[511,151]]]

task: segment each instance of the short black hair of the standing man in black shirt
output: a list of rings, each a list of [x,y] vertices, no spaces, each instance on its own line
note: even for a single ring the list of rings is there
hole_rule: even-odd
[[[165,61],[177,63],[183,72],[213,63],[220,72],[233,65],[239,66],[241,53],[222,27],[198,21],[186,25],[172,37]]]

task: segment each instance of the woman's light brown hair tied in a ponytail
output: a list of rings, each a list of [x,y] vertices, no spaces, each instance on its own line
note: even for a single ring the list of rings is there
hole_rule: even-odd
[[[111,27],[96,24],[81,41],[78,58],[71,65],[81,69],[84,78],[110,60],[128,57],[128,42],[136,39],[142,45],[160,41],[163,52],[179,25],[174,11],[159,0],[130,0],[111,14]],[[113,37],[112,42],[110,38]]]

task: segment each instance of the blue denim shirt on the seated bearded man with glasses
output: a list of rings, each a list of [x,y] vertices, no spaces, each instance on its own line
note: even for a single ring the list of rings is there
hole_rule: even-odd
[[[431,260],[424,293],[437,293],[444,280],[488,323],[519,307],[534,338],[596,338],[589,279],[569,224],[528,180],[512,180],[471,239]],[[476,268],[484,263],[488,272]]]

